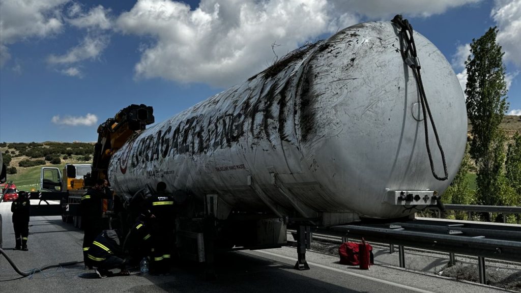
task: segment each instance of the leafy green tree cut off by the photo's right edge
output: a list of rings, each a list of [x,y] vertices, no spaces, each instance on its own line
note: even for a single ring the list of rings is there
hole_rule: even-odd
[[[506,178],[508,183],[517,193],[516,205],[521,205],[521,134],[514,135],[514,141],[508,144],[506,152]]]

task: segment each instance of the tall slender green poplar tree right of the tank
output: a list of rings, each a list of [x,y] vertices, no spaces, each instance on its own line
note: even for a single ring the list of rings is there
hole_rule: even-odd
[[[499,128],[506,102],[505,66],[498,30],[490,28],[473,39],[465,67],[467,69],[467,115],[472,123],[470,156],[477,165],[477,199],[481,204],[501,204],[502,171],[505,159],[505,135]],[[487,221],[490,216],[486,214]]]

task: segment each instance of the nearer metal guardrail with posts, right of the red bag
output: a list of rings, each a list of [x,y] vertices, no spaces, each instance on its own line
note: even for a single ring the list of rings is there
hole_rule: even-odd
[[[407,229],[407,230],[405,230]],[[400,267],[405,267],[404,247],[478,257],[480,283],[486,284],[485,258],[521,263],[521,227],[479,222],[410,221],[392,224],[342,225],[312,231],[348,238],[388,243],[391,253],[399,247]]]

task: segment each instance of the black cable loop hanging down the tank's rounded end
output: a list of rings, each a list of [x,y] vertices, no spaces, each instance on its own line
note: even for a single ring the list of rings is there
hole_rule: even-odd
[[[416,80],[416,84],[418,87],[418,91],[420,94],[420,102],[421,102],[421,109],[423,111],[424,115],[424,128],[425,128],[425,144],[427,146],[427,154],[429,155],[429,162],[430,162],[430,169],[432,172],[432,176],[434,178],[444,181],[449,178],[449,174],[447,172],[447,164],[445,162],[445,154],[443,153],[443,148],[441,147],[440,138],[438,136],[438,130],[436,130],[436,125],[434,123],[434,119],[432,118],[432,114],[430,112],[429,102],[427,101],[427,95],[425,94],[425,89],[423,86],[423,81],[421,81],[421,74],[420,74],[420,62],[416,53],[416,44],[414,43],[413,38],[413,27],[411,26],[411,23],[407,19],[403,19],[401,15],[396,15],[392,20],[392,23],[394,23],[395,26],[397,26],[400,29],[400,52],[402,53],[402,58],[407,64],[408,67],[411,67],[413,69],[414,79]],[[427,113],[429,114],[429,121],[432,125],[432,130],[434,132],[434,135],[436,137],[436,142],[438,144],[438,149],[440,150],[441,154],[441,160],[443,162],[443,172],[444,177],[440,177],[436,174],[436,171],[434,169],[434,163],[432,161],[432,154],[430,152],[430,145],[429,145],[429,129],[428,129],[428,122],[425,117],[427,117]]]

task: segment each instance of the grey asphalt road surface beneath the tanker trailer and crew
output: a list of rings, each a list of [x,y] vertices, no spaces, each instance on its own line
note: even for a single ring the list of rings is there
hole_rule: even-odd
[[[0,292],[504,292],[480,285],[375,265],[369,271],[338,264],[330,255],[308,252],[308,271],[293,269],[294,248],[233,252],[216,258],[217,279],[206,280],[204,266],[180,261],[169,276],[120,276],[97,278],[83,264],[33,270],[48,264],[82,260],[81,230],[61,217],[31,217],[29,251],[15,245],[11,203],[0,203],[3,247],[22,271],[21,277],[0,256]]]

